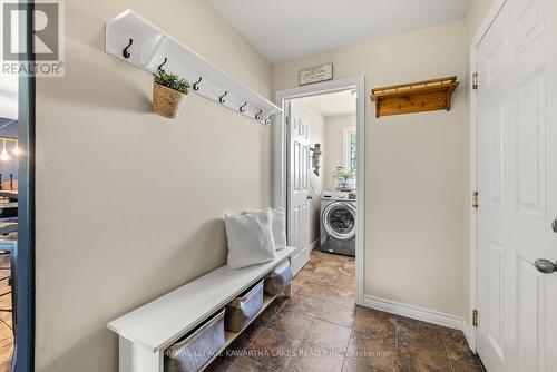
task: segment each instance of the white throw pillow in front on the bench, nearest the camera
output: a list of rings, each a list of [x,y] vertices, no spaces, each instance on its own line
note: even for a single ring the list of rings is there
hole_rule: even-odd
[[[271,211],[225,215],[224,224],[231,268],[247,267],[275,258]]]

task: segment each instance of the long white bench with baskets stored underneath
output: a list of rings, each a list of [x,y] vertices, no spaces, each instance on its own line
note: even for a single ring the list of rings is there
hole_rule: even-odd
[[[164,372],[166,347],[290,260],[294,252],[286,247],[272,262],[240,270],[221,266],[108,323],[108,329],[119,335],[119,371]],[[289,286],[285,294],[290,296],[290,292]],[[274,298],[265,294],[262,311]],[[238,334],[227,332],[226,345]]]

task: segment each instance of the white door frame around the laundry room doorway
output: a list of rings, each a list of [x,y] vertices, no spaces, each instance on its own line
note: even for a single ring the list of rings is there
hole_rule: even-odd
[[[285,108],[287,100],[328,92],[355,89],[356,133],[358,133],[358,178],[356,178],[356,235],[355,235],[355,303],[364,304],[364,262],[365,262],[365,78],[358,76],[324,81],[276,91],[276,105]],[[285,111],[275,117],[273,128],[273,184],[274,205],[286,207],[286,118]]]

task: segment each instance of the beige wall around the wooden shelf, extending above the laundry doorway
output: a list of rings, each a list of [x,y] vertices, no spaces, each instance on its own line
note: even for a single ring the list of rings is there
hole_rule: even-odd
[[[333,62],[335,78],[373,87],[465,77],[463,20],[273,67],[273,89],[301,68]],[[463,315],[465,97],[450,112],[374,118],[367,99],[365,294]]]

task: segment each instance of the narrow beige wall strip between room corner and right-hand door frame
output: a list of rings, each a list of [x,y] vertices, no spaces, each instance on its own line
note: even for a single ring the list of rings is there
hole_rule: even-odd
[[[468,86],[470,86],[470,48],[472,43],[472,38],[476,36],[476,32],[478,31],[479,27],[481,26],[481,22],[483,21],[483,18],[486,17],[487,12],[489,9],[494,6],[495,0],[472,0],[470,2],[470,9],[468,11],[468,14],[466,17],[466,67],[467,67],[467,82]],[[466,123],[466,138],[470,138],[470,97],[469,97],[469,90],[467,89],[466,91],[466,110],[465,110],[465,123]],[[465,180],[466,185],[470,185],[470,146],[469,146],[469,140],[466,140],[466,146],[465,146]],[[470,189],[469,187],[466,189],[465,194],[465,199],[467,200],[468,206],[470,205]],[[466,208],[466,234],[465,234],[465,257],[463,257],[463,263],[465,263],[465,312],[467,316],[465,317],[466,321],[470,324],[471,323],[471,312],[469,311],[469,303],[470,303],[470,293],[469,293],[469,287],[470,287],[470,275],[469,275],[469,270],[470,270],[470,260],[469,260],[469,246],[470,246],[470,208]]]

